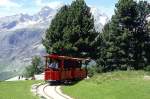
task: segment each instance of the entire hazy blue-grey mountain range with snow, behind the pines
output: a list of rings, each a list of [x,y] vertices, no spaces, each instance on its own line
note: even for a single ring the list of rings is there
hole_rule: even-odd
[[[17,14],[0,18],[0,80],[4,73],[18,74],[35,55],[44,55],[42,36],[55,17],[58,9],[42,8],[34,15]],[[108,17],[97,8],[91,8],[95,28],[101,31]]]

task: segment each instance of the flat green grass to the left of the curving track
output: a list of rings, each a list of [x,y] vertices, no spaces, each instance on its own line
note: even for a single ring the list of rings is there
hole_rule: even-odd
[[[41,81],[0,82],[0,99],[39,99],[34,96],[31,85]]]

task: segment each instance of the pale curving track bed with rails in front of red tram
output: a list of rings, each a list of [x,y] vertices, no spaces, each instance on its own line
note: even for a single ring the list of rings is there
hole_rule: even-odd
[[[61,92],[60,86],[39,85],[36,88],[36,93],[46,99],[72,99]]]

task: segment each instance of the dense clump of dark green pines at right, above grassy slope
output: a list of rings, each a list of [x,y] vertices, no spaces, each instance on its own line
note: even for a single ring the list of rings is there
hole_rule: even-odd
[[[145,1],[119,0],[115,15],[104,27],[105,46],[98,60],[103,71],[143,69],[149,62],[149,30],[146,16],[149,4]]]

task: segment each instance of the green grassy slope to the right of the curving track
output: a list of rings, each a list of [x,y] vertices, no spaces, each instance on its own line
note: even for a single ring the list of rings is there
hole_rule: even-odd
[[[144,71],[126,71],[97,74],[63,92],[75,99],[150,99],[150,80]]]

